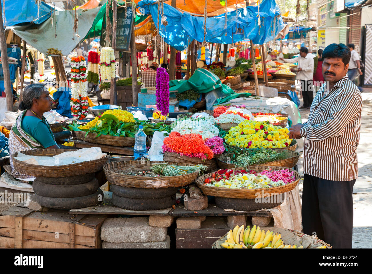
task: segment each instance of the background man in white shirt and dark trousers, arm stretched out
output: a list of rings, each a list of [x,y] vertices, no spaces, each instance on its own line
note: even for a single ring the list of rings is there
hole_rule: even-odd
[[[300,48],[300,56],[293,59],[283,59],[286,63],[298,63],[296,79],[301,82],[302,97],[304,98],[304,105],[300,108],[309,108],[314,98],[312,94],[312,75],[314,72],[314,55],[308,53],[306,47]]]

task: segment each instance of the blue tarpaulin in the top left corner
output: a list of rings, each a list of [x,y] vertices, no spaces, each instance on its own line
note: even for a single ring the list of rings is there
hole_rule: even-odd
[[[40,24],[51,16],[54,9],[40,1],[39,9],[35,0],[0,0],[5,6],[4,26],[14,26],[21,23]],[[35,3],[36,2],[36,3]],[[4,4],[4,6],[3,6]]]

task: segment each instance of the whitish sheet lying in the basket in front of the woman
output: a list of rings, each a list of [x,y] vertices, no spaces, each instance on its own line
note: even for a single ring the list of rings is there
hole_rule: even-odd
[[[107,154],[102,153],[101,148],[82,148],[76,151],[66,151],[53,157],[33,156],[18,153],[15,157],[17,160],[27,164],[39,166],[64,166],[68,164],[76,164],[85,161],[93,161],[105,157]]]

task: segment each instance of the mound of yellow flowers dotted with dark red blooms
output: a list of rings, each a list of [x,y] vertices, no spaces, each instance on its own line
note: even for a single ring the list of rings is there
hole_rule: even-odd
[[[240,148],[285,148],[291,144],[287,128],[270,125],[269,122],[244,120],[231,127],[225,142]]]

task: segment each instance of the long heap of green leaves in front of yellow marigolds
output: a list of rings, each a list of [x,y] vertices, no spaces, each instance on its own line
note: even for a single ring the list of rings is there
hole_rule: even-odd
[[[120,136],[120,137],[131,137],[134,138],[134,135],[137,133],[139,126],[143,126],[143,131],[147,136],[154,135],[155,131],[163,130],[163,123],[159,122],[155,125],[147,121],[138,121],[133,122],[122,122],[112,114],[102,115],[95,126],[90,129],[79,129],[77,122],[70,124],[68,128],[74,131],[84,131],[86,135],[89,132],[97,133],[97,136],[100,135],[110,135],[110,136]]]

